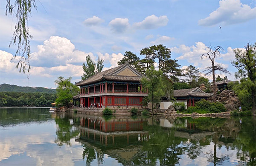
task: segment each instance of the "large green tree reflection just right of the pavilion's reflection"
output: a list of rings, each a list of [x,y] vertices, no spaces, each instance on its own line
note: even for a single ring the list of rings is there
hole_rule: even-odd
[[[160,126],[149,126],[148,141],[143,142],[142,151],[133,159],[134,165],[175,165],[180,160],[180,155],[186,149],[183,142],[186,138],[175,137],[173,129],[163,129]],[[146,138],[143,138],[144,140]]]

